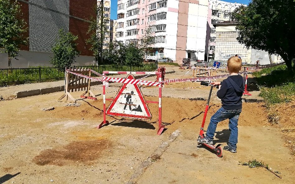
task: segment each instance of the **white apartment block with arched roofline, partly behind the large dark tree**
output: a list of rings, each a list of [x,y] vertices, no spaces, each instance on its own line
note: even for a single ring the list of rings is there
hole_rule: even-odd
[[[236,7],[246,6],[244,4],[225,2],[219,0],[210,0],[208,8],[208,24],[206,35],[205,60],[209,61],[214,58],[216,47],[216,29],[213,24],[229,20],[229,13],[234,11]]]

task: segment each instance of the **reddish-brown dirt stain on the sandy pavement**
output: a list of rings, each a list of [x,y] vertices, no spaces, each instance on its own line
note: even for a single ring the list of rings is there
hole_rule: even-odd
[[[47,149],[35,156],[37,165],[72,165],[77,163],[91,164],[91,161],[103,155],[106,149],[112,148],[107,139],[75,141],[66,146]]]

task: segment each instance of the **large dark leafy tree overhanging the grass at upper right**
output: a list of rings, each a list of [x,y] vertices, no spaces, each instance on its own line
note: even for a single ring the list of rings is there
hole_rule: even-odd
[[[237,40],[247,48],[278,54],[288,70],[295,70],[295,1],[252,0],[231,13],[239,30]]]

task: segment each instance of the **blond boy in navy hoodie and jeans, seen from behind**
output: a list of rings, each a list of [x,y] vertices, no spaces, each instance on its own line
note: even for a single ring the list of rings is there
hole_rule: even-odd
[[[238,142],[238,120],[242,111],[241,97],[244,92],[245,80],[239,75],[242,67],[242,61],[238,57],[231,57],[227,60],[227,70],[230,76],[222,82],[213,82],[214,86],[220,85],[217,92],[218,98],[221,99],[222,107],[210,119],[207,128],[206,137],[198,139],[199,143],[213,144],[213,136],[217,123],[229,119],[230,136],[227,146],[223,150],[236,153],[236,144]]]

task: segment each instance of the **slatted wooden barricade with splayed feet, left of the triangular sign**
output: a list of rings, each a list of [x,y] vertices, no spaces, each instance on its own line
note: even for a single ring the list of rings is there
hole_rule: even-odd
[[[66,71],[65,71],[65,86],[64,86],[65,93],[59,98],[59,101],[61,101],[63,98],[66,98],[66,101],[68,101],[68,98],[70,98],[73,102],[75,102],[76,100],[70,94],[70,92],[76,92],[80,90],[81,91],[86,90],[80,96],[81,98],[89,98],[89,99],[96,100],[95,95],[90,90],[91,79],[86,79],[86,78],[71,74],[67,70],[68,68],[66,68]],[[69,71],[91,77],[91,71],[87,70],[86,68],[82,68],[82,69],[70,68]]]

